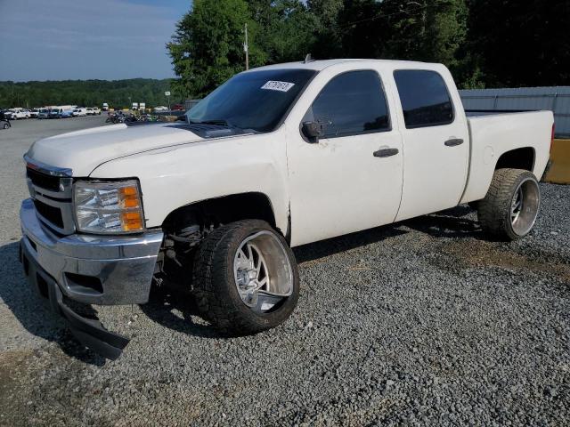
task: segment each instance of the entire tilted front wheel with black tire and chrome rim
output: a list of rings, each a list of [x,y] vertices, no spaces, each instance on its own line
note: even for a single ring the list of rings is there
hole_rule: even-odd
[[[200,313],[224,334],[256,334],[283,323],[297,305],[295,255],[264,221],[232,222],[202,242],[193,271]]]

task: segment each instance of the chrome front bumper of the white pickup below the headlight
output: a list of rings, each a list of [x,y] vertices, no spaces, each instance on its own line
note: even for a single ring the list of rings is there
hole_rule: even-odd
[[[148,301],[162,230],[139,236],[58,237],[38,220],[29,198],[21,204],[20,222],[22,245],[70,299],[102,305]],[[65,273],[98,278],[102,294],[70,286]]]

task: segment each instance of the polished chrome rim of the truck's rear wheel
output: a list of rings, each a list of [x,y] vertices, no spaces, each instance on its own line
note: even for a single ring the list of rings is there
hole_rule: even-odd
[[[510,222],[517,236],[525,236],[536,222],[541,204],[538,183],[527,178],[518,184],[510,202]]]

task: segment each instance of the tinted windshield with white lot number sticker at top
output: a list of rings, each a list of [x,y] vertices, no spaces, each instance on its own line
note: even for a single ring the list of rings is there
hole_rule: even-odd
[[[186,117],[256,132],[271,132],[316,74],[312,69],[268,69],[242,73],[199,101]]]

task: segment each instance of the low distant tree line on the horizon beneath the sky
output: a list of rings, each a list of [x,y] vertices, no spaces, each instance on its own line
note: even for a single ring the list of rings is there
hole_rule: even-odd
[[[0,108],[34,108],[45,105],[78,105],[126,108],[145,102],[147,108],[167,105],[165,91],[171,79],[61,80],[47,82],[0,82]],[[180,97],[179,97],[180,98]],[[179,101],[173,97],[171,101]]]

